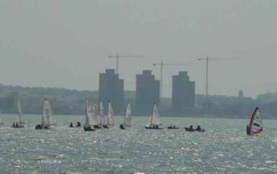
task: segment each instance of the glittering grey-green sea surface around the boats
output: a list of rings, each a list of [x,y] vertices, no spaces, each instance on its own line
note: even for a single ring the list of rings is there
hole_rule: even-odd
[[[247,137],[247,119],[161,117],[179,130],[145,130],[147,117],[132,128],[95,132],[69,128],[84,116],[55,116],[50,130],[35,130],[40,115],[24,115],[25,128],[11,128],[17,115],[2,115],[0,173],[277,173],[277,121]],[[200,125],[205,133],[186,132]]]

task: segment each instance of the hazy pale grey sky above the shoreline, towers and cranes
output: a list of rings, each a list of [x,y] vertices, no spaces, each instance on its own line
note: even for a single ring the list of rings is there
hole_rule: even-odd
[[[186,70],[205,92],[205,64],[197,57],[243,57],[210,61],[210,93],[276,92],[277,1],[275,0],[0,0],[0,83],[98,90],[98,72],[120,59],[125,90],[135,90],[143,69],[160,77],[164,94],[172,75]]]

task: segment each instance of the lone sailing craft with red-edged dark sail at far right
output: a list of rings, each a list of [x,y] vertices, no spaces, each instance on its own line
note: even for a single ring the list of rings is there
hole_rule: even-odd
[[[249,125],[247,125],[247,135],[257,135],[262,132],[262,115],[260,114],[260,108],[256,107]]]

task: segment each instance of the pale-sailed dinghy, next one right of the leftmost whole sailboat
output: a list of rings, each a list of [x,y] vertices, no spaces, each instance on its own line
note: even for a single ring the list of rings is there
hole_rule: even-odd
[[[35,129],[48,129],[50,128],[50,113],[51,108],[46,98],[44,98],[44,110],[42,112],[42,122],[41,124],[37,124]]]

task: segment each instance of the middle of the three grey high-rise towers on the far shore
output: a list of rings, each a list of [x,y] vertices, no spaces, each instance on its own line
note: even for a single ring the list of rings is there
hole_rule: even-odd
[[[136,112],[150,114],[154,101],[159,105],[160,81],[155,80],[151,70],[136,75]]]

